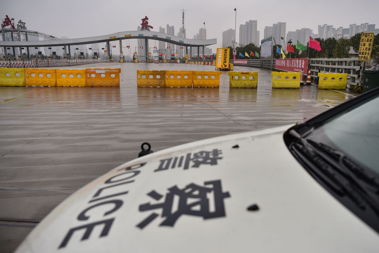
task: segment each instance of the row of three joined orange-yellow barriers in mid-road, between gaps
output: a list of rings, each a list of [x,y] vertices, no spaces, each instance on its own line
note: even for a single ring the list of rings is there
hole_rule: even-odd
[[[137,87],[213,87],[220,85],[219,71],[137,70]]]

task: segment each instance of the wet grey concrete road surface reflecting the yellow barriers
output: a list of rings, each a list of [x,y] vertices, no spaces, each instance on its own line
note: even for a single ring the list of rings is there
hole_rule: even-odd
[[[303,122],[356,96],[345,91],[137,88],[136,70],[214,70],[185,64],[99,63],[120,67],[121,87],[0,87],[0,252],[12,252],[30,230],[78,188],[138,156],[223,134]]]

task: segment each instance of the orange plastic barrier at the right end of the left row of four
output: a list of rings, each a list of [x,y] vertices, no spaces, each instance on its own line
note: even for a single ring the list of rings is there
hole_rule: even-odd
[[[87,87],[120,87],[120,68],[87,68]]]

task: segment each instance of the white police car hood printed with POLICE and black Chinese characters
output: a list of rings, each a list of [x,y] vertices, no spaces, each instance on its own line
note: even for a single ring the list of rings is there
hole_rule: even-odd
[[[289,127],[125,163],[63,201],[17,252],[377,252],[378,234],[291,155]]]

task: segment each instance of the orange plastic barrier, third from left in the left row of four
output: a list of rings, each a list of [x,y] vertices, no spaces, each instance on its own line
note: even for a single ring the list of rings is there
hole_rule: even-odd
[[[56,86],[86,87],[86,70],[55,70]]]

